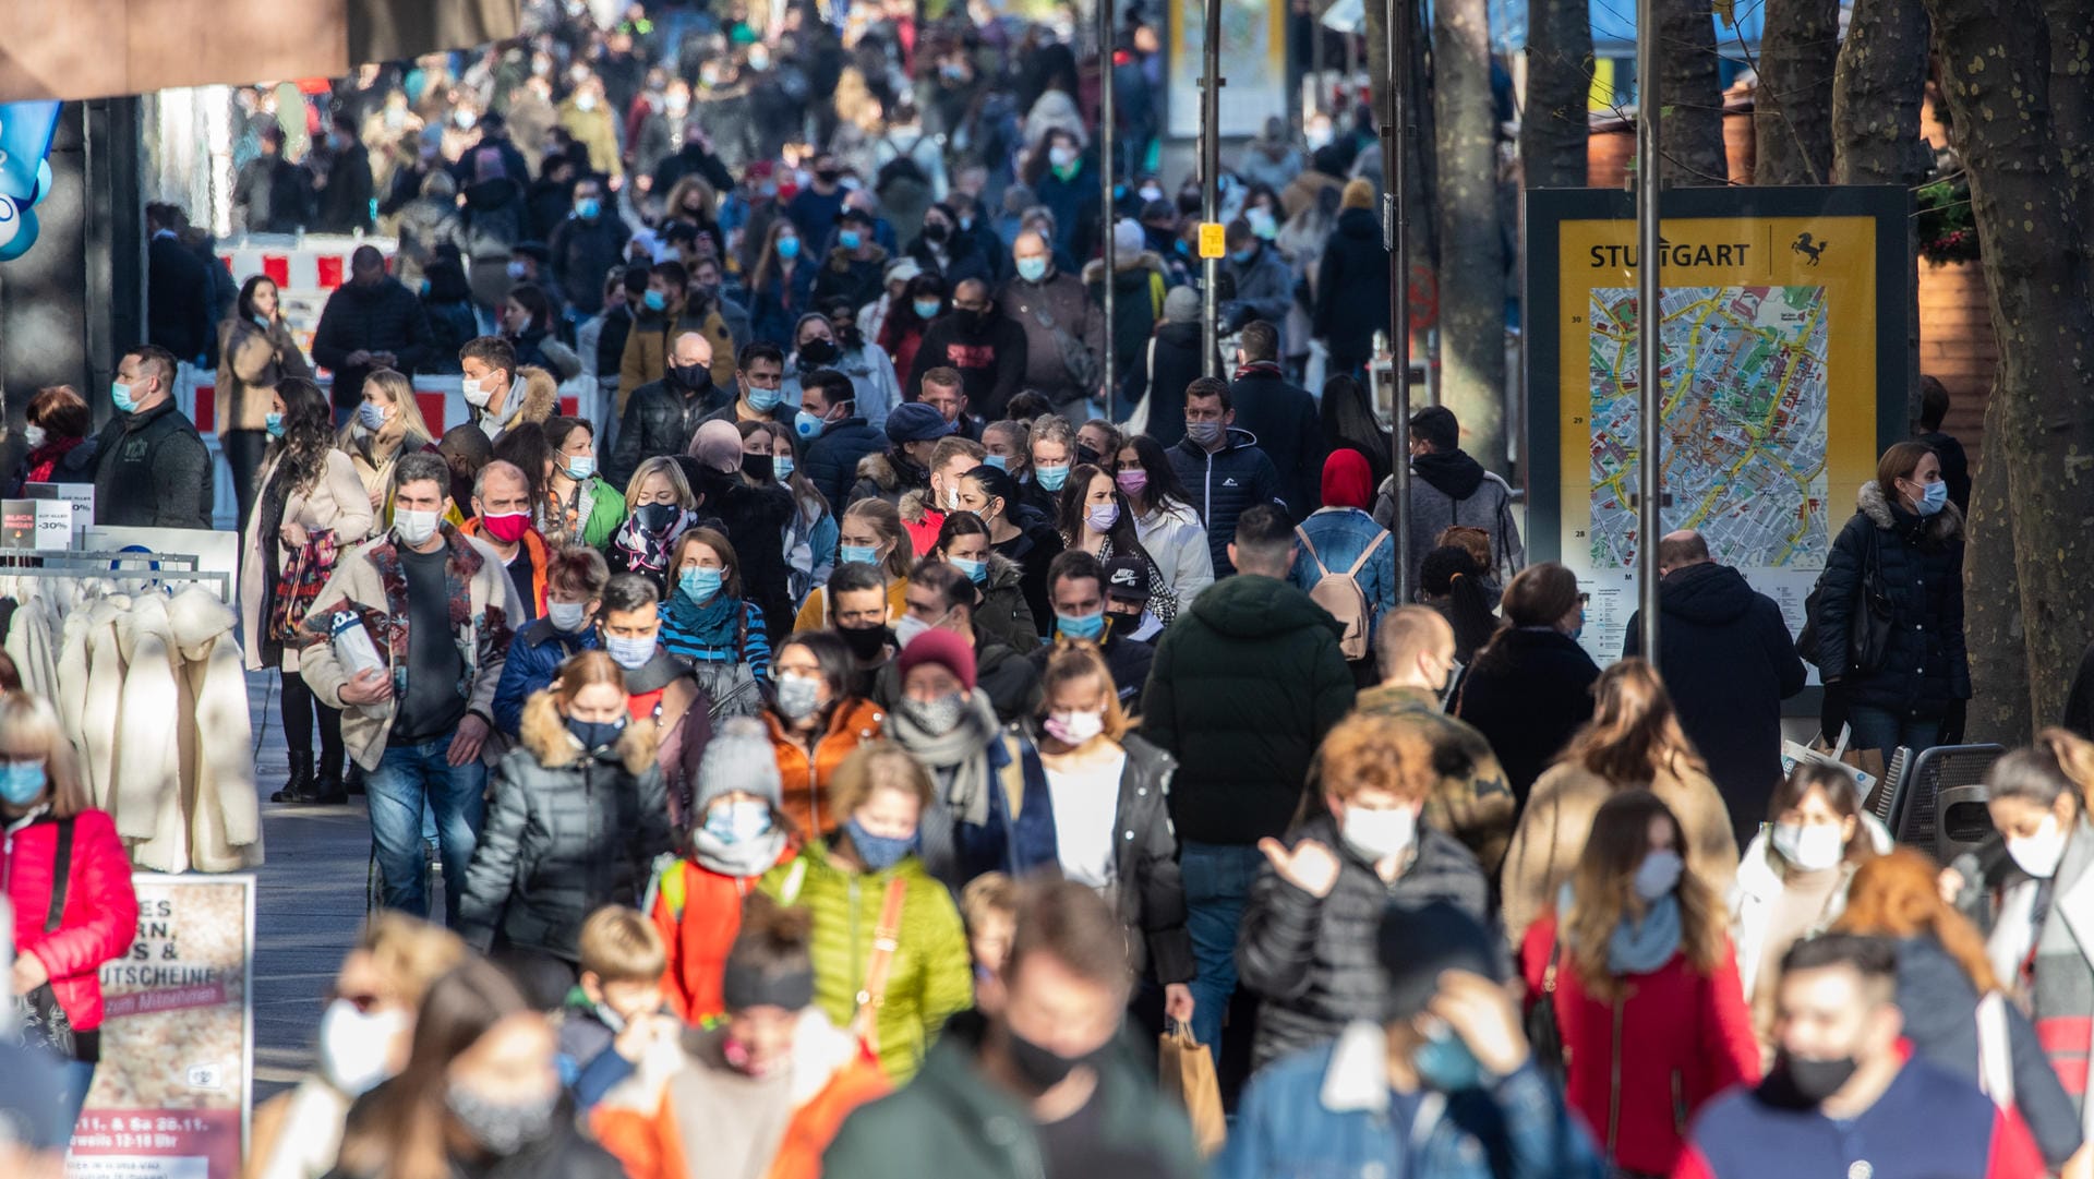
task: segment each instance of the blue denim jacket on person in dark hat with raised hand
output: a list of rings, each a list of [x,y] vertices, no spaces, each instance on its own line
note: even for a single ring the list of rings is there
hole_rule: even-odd
[[[1388,1041],[1355,1022],[1321,1047],[1277,1060],[1244,1091],[1212,1179],[1598,1179],[1600,1160],[1562,1095],[1533,1066],[1489,1089],[1426,1091],[1390,1116]],[[1390,1160],[1403,1158],[1403,1166]]]

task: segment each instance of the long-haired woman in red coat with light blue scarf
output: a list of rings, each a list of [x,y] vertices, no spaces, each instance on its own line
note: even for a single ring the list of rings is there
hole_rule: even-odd
[[[1759,1081],[1723,907],[1648,789],[1606,800],[1556,909],[1520,944],[1527,1003],[1562,1028],[1564,1097],[1612,1175],[1669,1175],[1717,1093]]]

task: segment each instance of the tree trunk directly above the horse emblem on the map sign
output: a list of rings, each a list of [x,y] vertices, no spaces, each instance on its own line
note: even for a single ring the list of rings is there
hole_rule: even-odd
[[[1767,0],[1753,92],[1753,184],[1832,176],[1832,73],[1839,0]]]

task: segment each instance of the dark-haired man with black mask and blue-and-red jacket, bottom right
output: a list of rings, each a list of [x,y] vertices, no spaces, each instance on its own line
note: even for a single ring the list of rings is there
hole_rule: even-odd
[[[2002,1110],[1977,1085],[1910,1055],[1897,942],[1797,942],[1782,957],[1776,1011],[1780,1051],[1767,1078],[1702,1108],[1675,1177],[2046,1173],[2012,1104]]]

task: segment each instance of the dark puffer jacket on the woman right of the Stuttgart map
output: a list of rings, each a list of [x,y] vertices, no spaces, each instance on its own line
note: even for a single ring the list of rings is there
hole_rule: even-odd
[[[1899,716],[1937,718],[1970,699],[1970,662],[1962,632],[1962,513],[1943,505],[1918,517],[1885,498],[1874,480],[1862,484],[1857,511],[1832,540],[1818,599],[1818,670],[1843,681],[1849,706],[1887,708]],[[1870,553],[1883,568],[1891,599],[1891,643],[1883,668],[1847,666],[1847,632],[1862,595]]]

